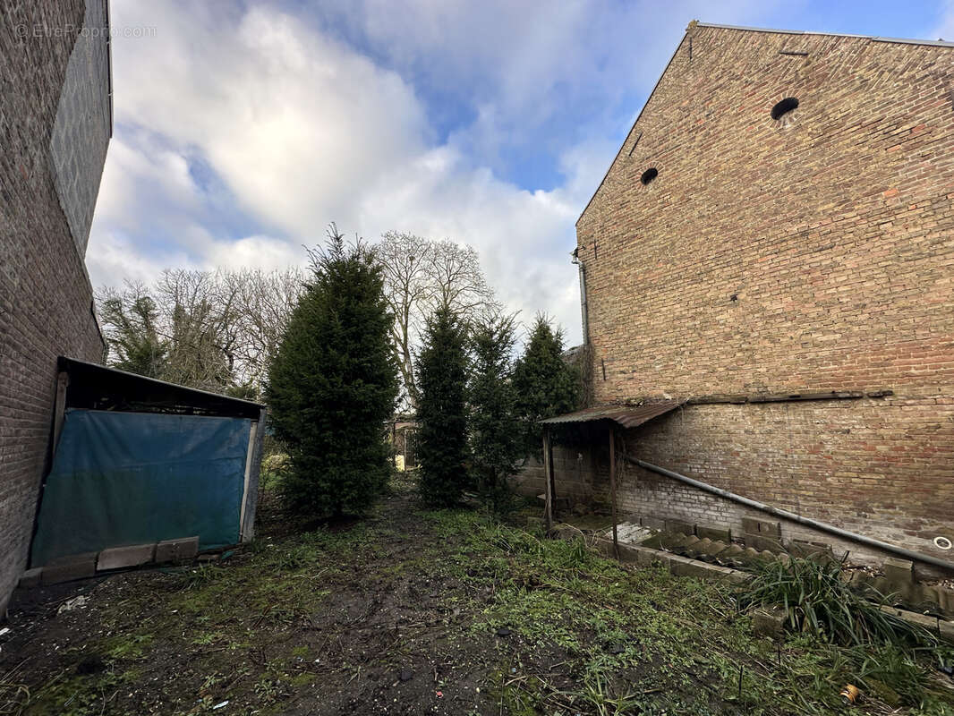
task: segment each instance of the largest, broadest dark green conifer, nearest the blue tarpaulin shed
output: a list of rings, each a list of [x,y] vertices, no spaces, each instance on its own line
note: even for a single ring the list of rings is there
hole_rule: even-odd
[[[374,252],[345,246],[334,224],[328,235],[327,248],[312,253],[312,282],[292,312],[266,396],[292,461],[281,486],[286,505],[358,515],[392,470],[384,424],[398,394],[393,317]]]

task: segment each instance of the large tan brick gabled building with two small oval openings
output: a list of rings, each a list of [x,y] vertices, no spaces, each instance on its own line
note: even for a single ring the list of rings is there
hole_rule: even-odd
[[[682,403],[627,452],[954,561],[952,200],[954,43],[692,23],[577,222],[594,402]],[[558,494],[606,494],[591,445]],[[632,465],[618,503],[751,516]]]

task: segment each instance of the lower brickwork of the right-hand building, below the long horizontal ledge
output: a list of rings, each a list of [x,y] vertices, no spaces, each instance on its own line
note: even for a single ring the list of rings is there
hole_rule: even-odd
[[[924,399],[690,405],[626,432],[624,445],[634,457],[736,495],[954,561],[954,551],[934,545],[937,536],[954,539],[954,460],[944,458],[952,424],[954,406]],[[605,509],[607,442],[558,446],[553,462],[558,496]],[[516,482],[527,494],[542,493],[543,467],[531,461]],[[780,521],[783,541],[823,542],[861,563],[888,556],[625,461],[617,509],[650,526],[677,519],[728,528],[737,538],[744,518]]]

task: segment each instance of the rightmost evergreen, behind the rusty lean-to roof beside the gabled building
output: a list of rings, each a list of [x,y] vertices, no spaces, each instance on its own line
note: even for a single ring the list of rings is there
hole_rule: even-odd
[[[543,429],[538,421],[577,408],[580,380],[577,369],[563,359],[563,331],[553,330],[538,315],[523,355],[513,369],[517,414],[522,423],[524,455],[542,454]]]

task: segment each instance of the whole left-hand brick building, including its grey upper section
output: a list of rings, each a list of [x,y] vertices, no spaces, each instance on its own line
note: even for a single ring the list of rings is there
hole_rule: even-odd
[[[99,362],[84,264],[113,130],[106,0],[0,7],[0,616],[26,565],[56,357]]]

